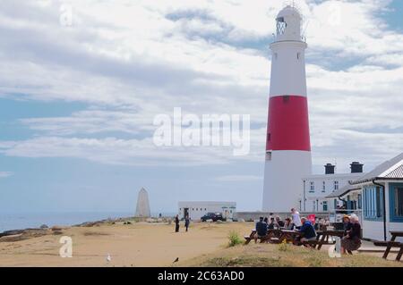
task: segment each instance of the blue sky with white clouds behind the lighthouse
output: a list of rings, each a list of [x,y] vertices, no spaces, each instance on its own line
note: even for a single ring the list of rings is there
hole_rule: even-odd
[[[260,210],[270,42],[285,1],[2,0],[0,212]],[[402,152],[403,1],[296,1],[313,172]],[[249,114],[251,149],[156,147],[158,114]]]

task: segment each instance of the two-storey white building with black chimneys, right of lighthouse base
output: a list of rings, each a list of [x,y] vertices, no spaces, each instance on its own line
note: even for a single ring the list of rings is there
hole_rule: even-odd
[[[324,174],[313,174],[303,177],[303,191],[299,199],[299,208],[303,212],[334,212],[340,207],[357,208],[357,199],[347,197],[340,199],[338,195],[331,197],[332,193],[338,193],[348,185],[348,181],[356,180],[363,176],[363,164],[353,162],[350,164],[350,173],[335,173],[335,165],[324,165]]]

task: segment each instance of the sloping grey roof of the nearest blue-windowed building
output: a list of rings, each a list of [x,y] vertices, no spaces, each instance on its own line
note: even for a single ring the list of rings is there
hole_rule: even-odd
[[[372,172],[351,182],[352,185],[368,182],[371,180],[403,180],[403,153],[378,165]]]

